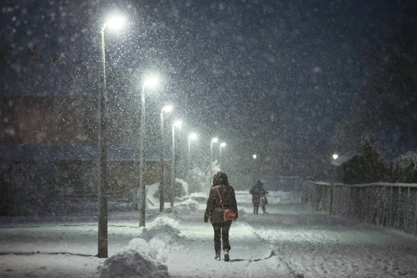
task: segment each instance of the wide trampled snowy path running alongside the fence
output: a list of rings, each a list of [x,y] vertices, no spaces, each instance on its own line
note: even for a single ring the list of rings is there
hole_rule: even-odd
[[[280,213],[246,219],[293,273],[309,278],[417,277],[417,239],[412,236],[311,214],[300,204],[274,210]]]

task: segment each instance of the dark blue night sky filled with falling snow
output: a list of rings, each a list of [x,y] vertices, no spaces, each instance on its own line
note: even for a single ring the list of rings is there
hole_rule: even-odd
[[[365,81],[361,47],[404,2],[27,0],[1,7],[1,95],[97,94],[97,32],[119,10],[129,26],[106,32],[111,101],[133,111],[141,76],[158,72],[161,87],[147,99],[152,134],[152,119],[169,102],[202,133],[206,149],[210,136],[227,140],[230,170],[254,152],[276,170],[277,156],[300,161],[334,151],[334,126]]]

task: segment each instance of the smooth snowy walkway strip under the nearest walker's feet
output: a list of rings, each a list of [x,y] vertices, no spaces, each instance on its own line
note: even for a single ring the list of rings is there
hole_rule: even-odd
[[[230,230],[231,263],[214,260],[213,228],[202,222],[202,211],[184,215],[183,220],[181,234],[189,251],[170,257],[173,277],[293,277],[244,220],[234,222]]]

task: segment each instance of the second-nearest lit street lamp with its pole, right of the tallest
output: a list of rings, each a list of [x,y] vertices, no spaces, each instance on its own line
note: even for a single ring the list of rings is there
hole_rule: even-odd
[[[145,88],[154,88],[158,83],[155,77],[147,77],[142,84],[142,113],[140,113],[140,165],[139,165],[139,187],[140,187],[140,219],[139,227],[145,227],[146,220],[146,186],[144,182],[145,175],[145,137],[146,137],[146,122],[145,122]]]

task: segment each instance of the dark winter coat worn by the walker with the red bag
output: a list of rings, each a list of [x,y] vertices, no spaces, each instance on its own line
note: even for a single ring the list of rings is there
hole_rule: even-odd
[[[236,195],[234,188],[229,185],[217,186],[220,196],[222,197],[222,203],[225,209],[230,208],[238,216],[238,205],[236,203]],[[204,213],[204,222],[210,218],[211,224],[219,223],[231,223],[230,221],[224,221],[222,204],[220,204],[220,198],[216,186],[211,186],[210,195],[207,199],[206,211]]]

